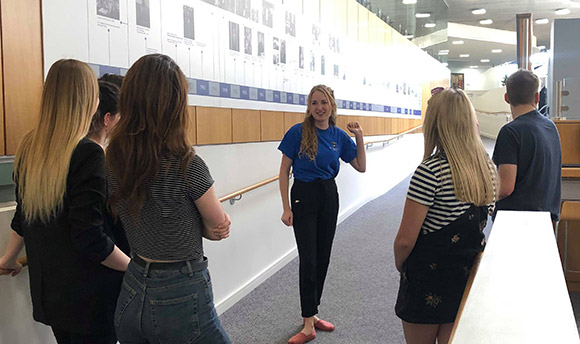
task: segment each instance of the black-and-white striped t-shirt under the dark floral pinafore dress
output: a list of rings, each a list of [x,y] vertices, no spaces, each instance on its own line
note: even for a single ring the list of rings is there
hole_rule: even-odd
[[[429,207],[421,227],[423,234],[440,230],[471,206],[455,196],[451,168],[445,155],[431,156],[417,167],[407,198]]]

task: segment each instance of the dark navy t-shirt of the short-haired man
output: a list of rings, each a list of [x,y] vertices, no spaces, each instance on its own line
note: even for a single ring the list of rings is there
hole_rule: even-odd
[[[549,211],[560,219],[562,151],[556,125],[530,111],[504,125],[493,151],[496,165],[517,165],[516,184],[496,210]]]

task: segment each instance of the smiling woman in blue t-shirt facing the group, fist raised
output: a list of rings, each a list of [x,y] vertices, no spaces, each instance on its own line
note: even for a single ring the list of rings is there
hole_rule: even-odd
[[[290,128],[278,147],[283,153],[280,164],[282,222],[294,226],[300,257],[304,329],[288,341],[291,344],[314,339],[314,328],[334,330],[334,325],[316,316],[338,216],[334,178],[340,169],[339,158],[359,172],[366,169],[362,128],[358,122],[349,122],[347,129],[355,135],[356,145],[344,130],[336,127],[334,92],[330,87],[317,85],[308,95],[304,121]],[[290,167],[294,184],[289,198]]]

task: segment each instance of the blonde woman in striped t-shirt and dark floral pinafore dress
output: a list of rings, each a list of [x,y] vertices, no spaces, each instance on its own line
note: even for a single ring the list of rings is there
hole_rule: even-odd
[[[407,343],[447,343],[476,256],[483,250],[497,174],[459,89],[429,100],[423,162],[411,178],[395,238],[401,272],[395,311]]]

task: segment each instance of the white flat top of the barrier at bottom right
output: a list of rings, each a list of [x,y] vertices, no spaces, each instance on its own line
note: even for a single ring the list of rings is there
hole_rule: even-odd
[[[454,331],[454,344],[580,343],[549,212],[498,212]]]

